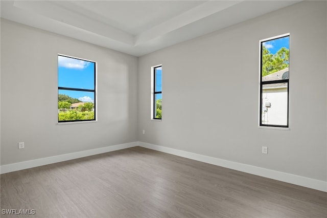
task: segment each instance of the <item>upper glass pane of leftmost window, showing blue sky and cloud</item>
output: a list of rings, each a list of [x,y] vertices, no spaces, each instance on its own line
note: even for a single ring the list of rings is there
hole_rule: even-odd
[[[58,86],[95,89],[95,62],[58,55]]]

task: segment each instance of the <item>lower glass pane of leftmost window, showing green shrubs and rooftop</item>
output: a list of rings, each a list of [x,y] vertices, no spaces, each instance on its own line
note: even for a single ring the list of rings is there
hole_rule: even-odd
[[[58,90],[58,120],[94,120],[95,93]]]

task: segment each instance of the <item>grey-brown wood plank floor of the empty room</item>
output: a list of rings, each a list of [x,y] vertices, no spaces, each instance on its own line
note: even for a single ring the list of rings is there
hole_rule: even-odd
[[[1,209],[1,217],[327,217],[327,193],[133,147],[5,173]]]

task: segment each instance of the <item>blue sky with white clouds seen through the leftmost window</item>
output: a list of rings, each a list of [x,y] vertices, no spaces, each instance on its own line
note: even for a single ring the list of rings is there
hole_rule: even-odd
[[[95,89],[95,62],[58,55],[58,86],[65,88]],[[94,102],[94,92],[59,90],[83,102]]]

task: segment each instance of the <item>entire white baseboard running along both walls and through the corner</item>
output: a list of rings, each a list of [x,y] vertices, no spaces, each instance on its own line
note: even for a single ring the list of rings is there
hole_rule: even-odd
[[[64,155],[58,155],[58,156],[52,156],[52,157],[40,158],[40,159],[35,159],[35,160],[30,160],[30,161],[2,165],[2,166],[0,166],[0,173],[7,173],[7,172],[17,171],[17,170],[21,170],[21,169],[42,166],[42,165],[46,165],[46,164],[58,163],[61,161],[68,161],[68,160],[83,158],[83,157],[87,157],[87,156],[91,156],[91,155],[98,155],[98,154],[102,154],[105,152],[121,150],[121,149],[135,147],[135,146],[141,146],[141,147],[165,152],[165,153],[172,154],[172,155],[189,158],[189,159],[196,160],[196,161],[201,161],[204,163],[222,166],[222,167],[226,167],[229,169],[235,169],[235,170],[239,170],[242,172],[251,173],[251,174],[257,175],[257,176],[266,177],[266,178],[270,178],[270,179],[274,179],[274,180],[279,180],[279,181],[283,181],[283,182],[287,182],[287,183],[300,185],[300,186],[327,192],[327,182],[325,182],[325,181],[315,180],[315,179],[311,179],[311,178],[307,178],[307,177],[301,177],[301,176],[293,175],[293,174],[286,173],[286,172],[275,171],[275,170],[271,170],[271,169],[242,164],[242,163],[238,163],[238,162],[227,161],[227,160],[223,160],[223,159],[219,159],[219,158],[199,155],[199,154],[195,154],[195,153],[188,152],[188,151],[178,150],[178,149],[160,146],[160,145],[149,144],[149,143],[145,143],[145,142],[130,142],[130,143],[125,143],[125,144],[112,145],[112,146],[95,148],[95,149],[90,149],[90,150],[77,151],[77,152],[68,153],[68,154],[64,154]]]

